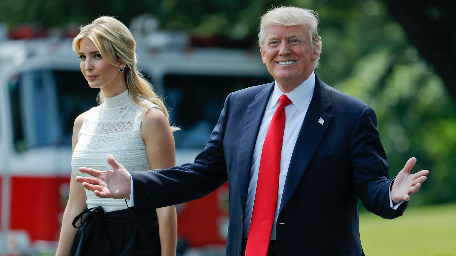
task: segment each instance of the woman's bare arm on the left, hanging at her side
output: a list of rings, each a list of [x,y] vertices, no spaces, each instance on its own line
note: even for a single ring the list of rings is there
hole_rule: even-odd
[[[81,129],[86,113],[80,114],[76,120],[74,120],[73,126],[73,151],[78,143],[78,133]],[[70,180],[70,196],[68,198],[67,207],[63,213],[62,229],[60,231],[60,239],[57,247],[56,256],[67,256],[70,254],[71,245],[73,244],[74,236],[78,231],[72,225],[73,219],[80,214],[86,207],[87,197],[85,190],[81,183],[77,182],[71,172]]]

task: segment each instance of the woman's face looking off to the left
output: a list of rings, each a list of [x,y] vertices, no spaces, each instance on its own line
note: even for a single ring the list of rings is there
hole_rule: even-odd
[[[106,62],[90,38],[84,38],[79,47],[81,59],[81,72],[92,88],[118,89],[125,85],[124,72],[119,72],[121,67]],[[120,63],[125,68],[125,63]]]

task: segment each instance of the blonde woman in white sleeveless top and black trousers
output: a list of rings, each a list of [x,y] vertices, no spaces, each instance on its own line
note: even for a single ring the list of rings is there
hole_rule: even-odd
[[[100,88],[98,107],[76,118],[70,196],[57,256],[176,254],[176,208],[134,211],[127,200],[99,198],[74,180],[81,166],[130,171],[170,168],[176,152],[168,112],[136,68],[135,40],[119,20],[100,17],[73,40],[81,72]],[[132,205],[128,205],[132,206]]]

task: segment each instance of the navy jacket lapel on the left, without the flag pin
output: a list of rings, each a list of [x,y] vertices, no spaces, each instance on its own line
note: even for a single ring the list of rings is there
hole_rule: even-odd
[[[269,97],[274,90],[274,82],[267,85],[255,96],[255,101],[249,105],[245,115],[244,128],[239,143],[238,151],[238,189],[242,210],[245,211],[247,192],[249,190],[250,170],[254,156],[255,143],[259,132],[264,110],[269,102]]]

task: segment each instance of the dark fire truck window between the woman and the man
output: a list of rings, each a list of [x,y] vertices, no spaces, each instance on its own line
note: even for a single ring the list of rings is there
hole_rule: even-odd
[[[229,93],[272,82],[270,77],[166,75],[164,96],[177,148],[204,148]]]

